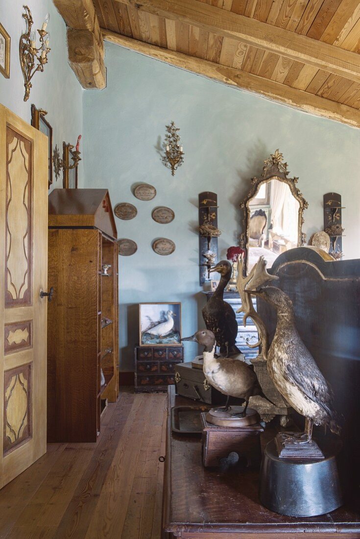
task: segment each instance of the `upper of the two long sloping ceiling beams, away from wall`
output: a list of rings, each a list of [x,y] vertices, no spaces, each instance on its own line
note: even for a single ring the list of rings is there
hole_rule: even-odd
[[[116,0],[360,82],[360,56],[198,0]]]

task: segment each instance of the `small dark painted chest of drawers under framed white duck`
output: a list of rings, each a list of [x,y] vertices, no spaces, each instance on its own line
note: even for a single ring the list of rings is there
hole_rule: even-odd
[[[184,347],[135,346],[135,393],[167,391],[175,383],[175,365],[184,361]]]

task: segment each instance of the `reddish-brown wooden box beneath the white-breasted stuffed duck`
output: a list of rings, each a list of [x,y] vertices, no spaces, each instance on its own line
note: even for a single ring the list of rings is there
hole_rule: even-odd
[[[259,467],[261,462],[260,433],[264,429],[257,423],[245,427],[211,425],[206,421],[206,413],[201,414],[203,424],[203,464],[219,466],[220,459],[227,459],[230,453],[247,459],[247,467]]]

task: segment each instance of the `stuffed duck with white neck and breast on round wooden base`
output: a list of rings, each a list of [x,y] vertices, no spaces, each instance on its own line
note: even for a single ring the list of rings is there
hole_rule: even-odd
[[[213,388],[227,396],[225,412],[229,410],[230,397],[245,401],[244,411],[241,412],[241,416],[244,417],[250,397],[260,395],[269,400],[262,392],[252,366],[230,357],[215,356],[216,338],[212,331],[201,329],[191,337],[182,338],[182,341],[196,341],[204,347],[204,375]]]

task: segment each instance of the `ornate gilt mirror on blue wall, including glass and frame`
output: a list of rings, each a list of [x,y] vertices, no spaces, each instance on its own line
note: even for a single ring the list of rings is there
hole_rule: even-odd
[[[288,178],[287,163],[279,150],[264,161],[260,178],[251,178],[244,209],[240,247],[246,251],[246,272],[264,255],[271,268],[279,254],[304,244],[301,230],[308,203],[296,187],[299,178]]]

